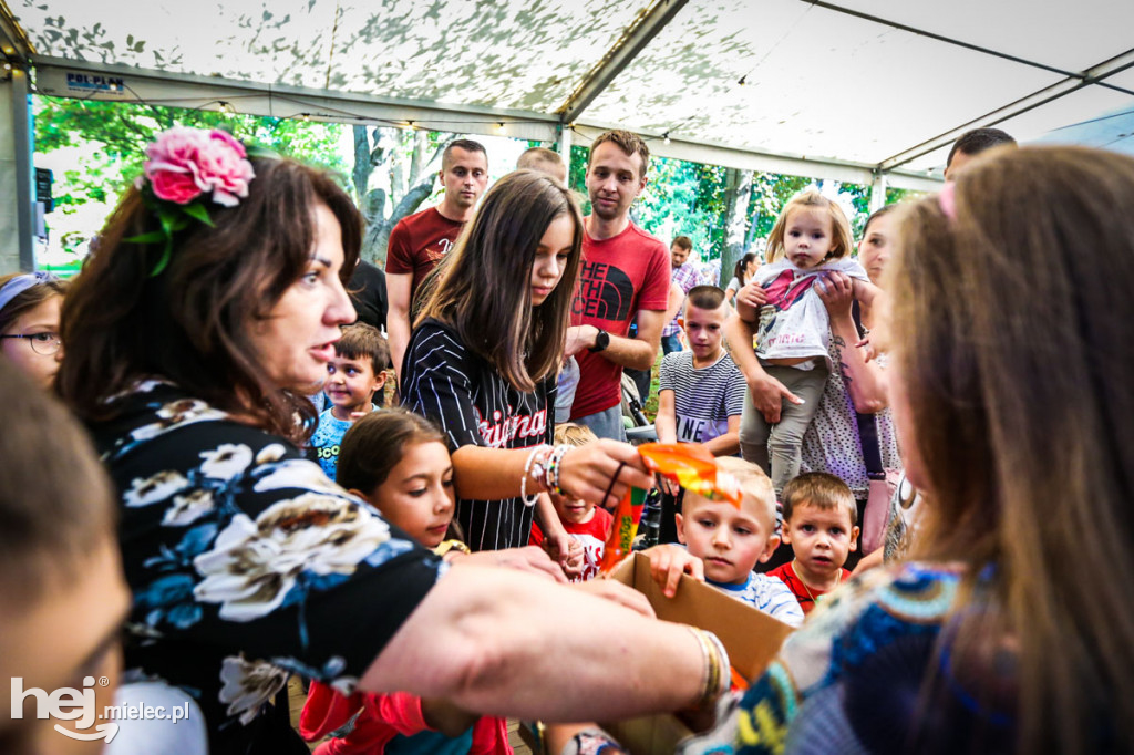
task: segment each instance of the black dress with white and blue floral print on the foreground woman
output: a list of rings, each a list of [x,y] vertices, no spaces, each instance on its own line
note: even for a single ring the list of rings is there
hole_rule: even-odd
[[[278,436],[160,381],[113,401],[126,668],[193,695],[210,752],[288,752],[288,676],[349,695],[445,566]]]

